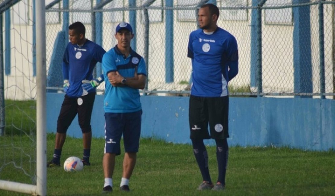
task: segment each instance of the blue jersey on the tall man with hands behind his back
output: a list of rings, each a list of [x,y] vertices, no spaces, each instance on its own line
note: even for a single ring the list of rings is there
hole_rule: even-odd
[[[238,73],[238,47],[233,35],[220,27],[213,34],[195,30],[190,34],[187,56],[192,61],[191,95],[228,95],[228,82]]]

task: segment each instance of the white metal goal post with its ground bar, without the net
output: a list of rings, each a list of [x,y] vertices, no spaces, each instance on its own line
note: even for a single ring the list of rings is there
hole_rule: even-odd
[[[0,189],[47,194],[47,135],[46,135],[46,22],[45,1],[34,0],[36,13],[36,185],[0,180]]]

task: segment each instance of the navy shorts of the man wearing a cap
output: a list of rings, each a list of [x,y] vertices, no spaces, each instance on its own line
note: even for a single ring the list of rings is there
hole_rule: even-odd
[[[105,153],[121,154],[122,135],[125,152],[138,152],[141,115],[142,110],[129,113],[105,113]]]

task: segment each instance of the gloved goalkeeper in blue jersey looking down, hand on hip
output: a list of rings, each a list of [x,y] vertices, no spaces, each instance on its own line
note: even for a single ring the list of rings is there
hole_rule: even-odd
[[[89,166],[91,150],[91,114],[95,99],[95,88],[87,88],[82,81],[91,81],[94,87],[104,78],[93,79],[93,68],[102,62],[106,51],[96,43],[85,38],[85,26],[75,22],[69,26],[69,39],[63,57],[64,101],[57,120],[57,133],[53,159],[47,167],[60,166],[60,157],[66,138],[66,131],[78,114],[78,122],[83,137],[83,164]],[[89,86],[92,87],[91,84]],[[86,90],[83,88],[85,87]]]

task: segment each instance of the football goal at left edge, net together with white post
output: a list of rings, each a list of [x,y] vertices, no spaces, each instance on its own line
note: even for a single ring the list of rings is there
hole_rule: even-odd
[[[0,195],[46,194],[44,7],[44,1],[0,3]]]

